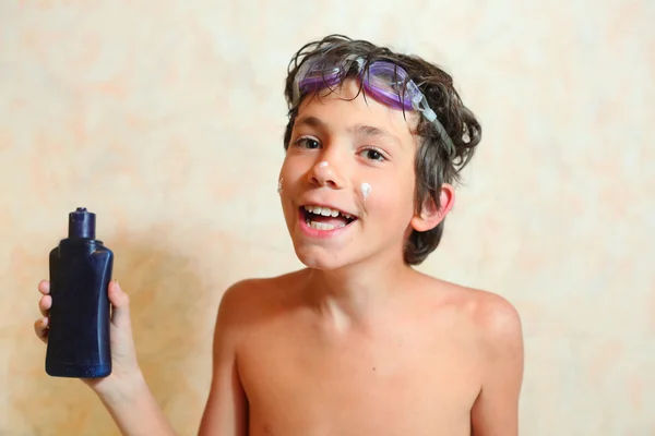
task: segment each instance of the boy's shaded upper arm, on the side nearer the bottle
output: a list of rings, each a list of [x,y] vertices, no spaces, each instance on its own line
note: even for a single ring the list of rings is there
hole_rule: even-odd
[[[248,434],[248,401],[236,361],[237,323],[239,312],[243,312],[239,300],[247,286],[246,282],[233,286],[221,301],[214,330],[212,384],[199,436]]]

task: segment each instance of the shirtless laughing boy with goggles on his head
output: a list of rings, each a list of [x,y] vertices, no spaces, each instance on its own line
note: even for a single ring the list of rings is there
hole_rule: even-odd
[[[334,35],[296,53],[285,96],[278,193],[307,268],[226,291],[199,434],[516,435],[515,310],[413,269],[480,141],[451,77]],[[114,373],[86,383],[124,435],[171,435],[139,371],[128,296],[108,292]]]

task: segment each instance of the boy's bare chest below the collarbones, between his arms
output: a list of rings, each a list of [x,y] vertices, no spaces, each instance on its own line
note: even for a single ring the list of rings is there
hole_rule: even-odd
[[[251,435],[468,435],[479,364],[466,335],[271,326],[240,351]]]

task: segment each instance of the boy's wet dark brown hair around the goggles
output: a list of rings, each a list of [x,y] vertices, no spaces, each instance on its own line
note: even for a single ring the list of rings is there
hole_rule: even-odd
[[[308,60],[324,65],[338,65],[343,64],[346,57],[353,56],[365,60],[365,74],[368,65],[376,61],[391,61],[404,69],[426,96],[428,105],[437,113],[438,120],[452,140],[454,149],[448,146],[430,121],[422,116],[419,117],[417,134],[420,142],[415,160],[416,213],[420,213],[428,201],[432,201],[436,207],[440,208],[441,185],[461,182],[461,171],[469,162],[481,140],[481,126],[473,112],[463,105],[453,86],[452,77],[420,57],[397,53],[388,47],[377,46],[367,40],[350,39],[343,35],[330,35],[302,46],[293,56],[287,71],[284,94],[289,110],[284,134],[285,149],[288,148],[298,109],[305,97],[301,94],[298,101],[294,101],[294,81],[298,69]],[[358,71],[350,69],[342,76],[342,82],[355,76],[358,76]],[[364,92],[361,85],[360,92]],[[443,226],[442,220],[433,229],[424,232],[412,229],[404,244],[404,262],[408,265],[422,263],[439,245]]]

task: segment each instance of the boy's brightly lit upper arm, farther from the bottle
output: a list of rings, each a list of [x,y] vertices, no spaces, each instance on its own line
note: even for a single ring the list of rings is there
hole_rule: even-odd
[[[474,436],[519,435],[519,396],[523,383],[523,332],[516,310],[488,294],[479,315],[485,374],[472,409]]]

